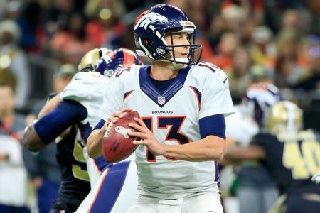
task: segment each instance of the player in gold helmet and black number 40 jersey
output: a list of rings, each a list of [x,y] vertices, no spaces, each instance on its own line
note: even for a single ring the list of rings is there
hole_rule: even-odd
[[[250,146],[230,148],[225,159],[260,160],[284,194],[274,207],[277,211],[319,212],[320,186],[311,181],[319,171],[319,133],[302,130],[302,110],[287,101],[267,111],[265,128],[267,131],[252,138]]]

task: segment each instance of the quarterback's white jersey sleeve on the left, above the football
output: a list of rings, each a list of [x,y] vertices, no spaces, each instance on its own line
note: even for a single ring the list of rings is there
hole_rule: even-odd
[[[113,75],[103,94],[103,104],[99,111],[101,119],[106,121],[115,111],[123,108],[123,94],[124,88],[121,76]]]

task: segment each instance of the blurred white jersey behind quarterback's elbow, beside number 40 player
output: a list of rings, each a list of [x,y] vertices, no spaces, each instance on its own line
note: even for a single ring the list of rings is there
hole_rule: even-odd
[[[225,119],[225,136],[233,138],[241,146],[248,146],[252,136],[258,133],[259,126],[242,108],[242,105],[235,106],[235,114]]]

